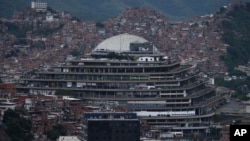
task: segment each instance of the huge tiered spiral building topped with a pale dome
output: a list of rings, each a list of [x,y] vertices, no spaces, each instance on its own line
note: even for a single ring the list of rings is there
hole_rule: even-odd
[[[121,34],[101,42],[89,58],[23,78],[20,93],[74,92],[85,101],[112,101],[159,130],[185,135],[209,132],[215,109],[229,97],[206,86],[199,71],[165,56],[144,38]]]

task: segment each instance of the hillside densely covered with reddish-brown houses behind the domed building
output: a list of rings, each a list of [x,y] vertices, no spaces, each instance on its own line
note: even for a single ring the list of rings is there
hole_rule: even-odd
[[[88,3],[91,4],[94,3]],[[129,33],[151,41],[167,56],[175,56],[184,63],[197,65],[203,72],[225,74],[228,70],[220,58],[229,66],[246,63],[249,60],[247,55],[249,49],[245,48],[249,39],[248,32],[245,32],[249,31],[250,25],[248,6],[233,7],[233,5],[228,6],[224,10],[221,8],[216,14],[195,18],[189,22],[171,22],[159,12],[145,7],[130,8],[119,13],[118,17],[110,18],[103,23],[69,22],[73,18],[63,14],[58,14],[59,19],[52,23],[43,22],[46,13],[32,13],[33,10],[26,9],[15,13],[14,23],[8,20],[0,22],[0,33],[2,32],[0,39],[5,46],[0,50],[0,57],[3,59],[3,64],[18,62],[25,70],[30,71],[41,63],[55,64],[68,54],[75,54],[77,51],[80,51],[80,55],[89,53],[104,39],[120,33]],[[27,20],[20,24],[23,19]],[[69,23],[64,27],[66,21]],[[221,22],[221,27],[218,27]],[[224,33],[223,38],[222,33]],[[246,42],[231,39],[234,36],[240,37],[236,39],[245,39]],[[25,37],[31,38],[34,42],[21,40]],[[228,55],[225,55],[227,50],[225,43],[230,45]],[[31,49],[13,48],[18,46],[30,46]],[[231,48],[234,46],[236,48]],[[47,51],[41,53],[44,49]],[[26,59],[32,61],[27,63]],[[2,72],[8,70],[3,69]]]

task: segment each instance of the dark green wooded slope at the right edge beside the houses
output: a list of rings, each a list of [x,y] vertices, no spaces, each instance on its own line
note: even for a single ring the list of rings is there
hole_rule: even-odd
[[[229,47],[221,59],[232,70],[250,62],[250,3],[234,5],[225,18],[221,22],[222,40]]]

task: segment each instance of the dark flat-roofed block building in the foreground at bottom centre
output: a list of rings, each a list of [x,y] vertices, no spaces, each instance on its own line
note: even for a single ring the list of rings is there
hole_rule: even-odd
[[[139,141],[140,122],[135,113],[85,113],[87,141]]]

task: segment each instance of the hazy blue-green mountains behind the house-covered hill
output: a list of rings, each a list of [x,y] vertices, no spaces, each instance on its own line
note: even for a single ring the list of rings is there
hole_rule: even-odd
[[[14,11],[30,7],[32,0],[0,1],[0,17],[11,17]],[[42,0],[56,10],[64,10],[82,20],[104,21],[118,16],[130,7],[150,7],[172,20],[190,20],[214,13],[236,0]],[[241,0],[249,1],[250,0]]]

